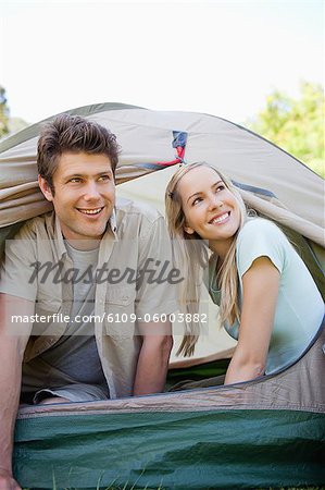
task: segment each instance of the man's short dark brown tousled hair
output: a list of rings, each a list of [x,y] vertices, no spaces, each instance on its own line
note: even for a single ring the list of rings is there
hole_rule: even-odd
[[[42,127],[37,146],[38,173],[52,192],[59,158],[66,151],[107,155],[115,174],[120,151],[116,136],[93,121],[79,115],[60,114]]]

